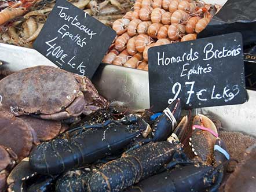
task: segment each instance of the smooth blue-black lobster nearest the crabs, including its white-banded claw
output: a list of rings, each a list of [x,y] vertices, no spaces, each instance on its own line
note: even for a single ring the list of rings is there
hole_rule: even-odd
[[[151,127],[138,115],[104,123],[86,123],[68,131],[68,139],[56,138],[36,146],[30,155],[30,165],[37,173],[54,175],[118,153],[135,142],[161,141],[165,138],[162,135],[171,132],[169,127],[175,127],[180,118],[180,99],[173,101],[163,113],[153,125],[151,138],[147,138]]]

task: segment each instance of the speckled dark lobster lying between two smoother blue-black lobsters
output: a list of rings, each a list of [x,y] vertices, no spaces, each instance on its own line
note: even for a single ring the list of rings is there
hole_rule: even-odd
[[[182,144],[178,141],[183,134],[181,129],[184,127],[178,125],[167,141],[147,143],[103,165],[90,176],[87,191],[121,191],[155,175],[175,153],[182,152]]]

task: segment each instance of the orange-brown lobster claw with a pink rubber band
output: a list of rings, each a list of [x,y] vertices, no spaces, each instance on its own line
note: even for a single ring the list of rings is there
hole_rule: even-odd
[[[218,133],[213,121],[204,115],[195,116],[192,124],[209,128],[215,134]],[[192,136],[189,138],[189,146],[191,146],[191,150],[196,156],[195,160],[202,162],[204,165],[211,165],[213,163],[215,142],[216,137],[209,131],[197,128],[192,130]]]

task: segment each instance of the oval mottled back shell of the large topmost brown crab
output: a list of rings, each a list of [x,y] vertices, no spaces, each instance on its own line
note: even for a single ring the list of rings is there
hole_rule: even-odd
[[[72,73],[49,66],[23,69],[0,81],[3,107],[17,107],[25,113],[60,112],[74,101],[78,91],[79,83]]]

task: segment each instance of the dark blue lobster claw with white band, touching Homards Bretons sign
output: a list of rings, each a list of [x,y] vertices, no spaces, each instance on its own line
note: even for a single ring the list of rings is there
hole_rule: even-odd
[[[171,104],[163,110],[162,115],[155,120],[153,124],[153,141],[164,141],[171,132],[174,131],[177,121],[181,117],[181,101],[180,98],[171,102]]]

